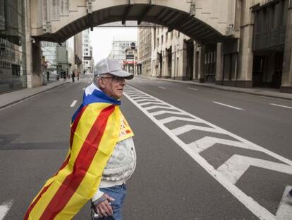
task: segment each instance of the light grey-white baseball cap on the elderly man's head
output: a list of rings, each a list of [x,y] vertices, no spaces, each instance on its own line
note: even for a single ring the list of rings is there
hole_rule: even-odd
[[[121,69],[121,65],[118,59],[102,59],[95,65],[95,70],[93,71],[95,76],[102,74],[111,74],[114,76],[123,77],[125,79],[133,79],[134,75],[127,71]]]

